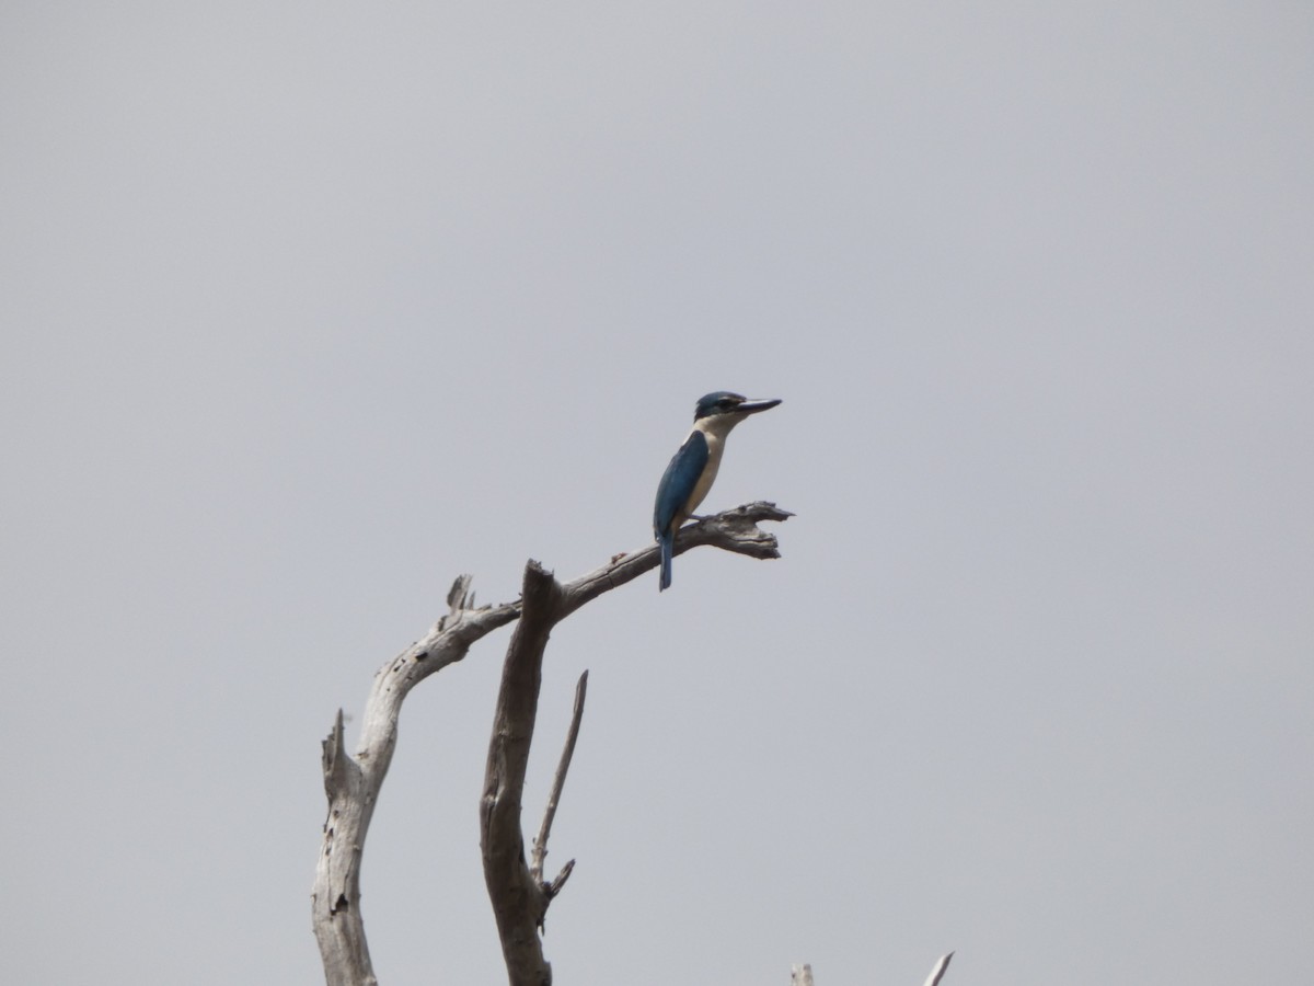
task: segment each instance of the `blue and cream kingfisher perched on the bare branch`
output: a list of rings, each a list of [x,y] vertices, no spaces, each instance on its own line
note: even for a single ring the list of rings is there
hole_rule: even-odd
[[[658,592],[670,585],[670,559],[675,550],[675,531],[681,528],[707,490],[712,488],[716,471],[721,467],[725,436],[749,414],[767,410],[779,400],[750,401],[728,390],[717,390],[699,398],[694,409],[694,427],[685,444],[670,460],[657,485],[657,505],[653,507],[653,534],[661,546],[661,582]]]

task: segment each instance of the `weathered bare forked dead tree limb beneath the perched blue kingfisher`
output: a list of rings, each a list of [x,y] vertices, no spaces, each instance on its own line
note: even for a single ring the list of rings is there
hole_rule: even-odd
[[[792,514],[774,504],[746,504],[687,525],[675,538],[675,553],[710,544],[749,557],[777,559],[781,553],[775,535],[759,530],[757,525],[788,517]],[[507,694],[498,698],[498,723],[503,722],[505,702],[509,728],[502,734],[501,726],[495,727],[489,747],[490,782],[485,785],[480,807],[481,833],[487,839],[485,878],[490,895],[497,886],[498,895],[493,903],[498,915],[498,931],[502,932],[503,927],[507,929],[503,948],[510,940],[515,969],[524,977],[516,978],[518,973],[511,968],[512,953],[507,953],[511,982],[551,982],[551,968],[543,960],[537,931],[548,901],[561,889],[574,861],[566,864],[555,881],[544,883],[539,852],[545,855],[547,847],[536,848],[535,866],[531,870],[524,865],[524,841],[519,830],[520,791],[536,713],[543,648],[557,622],[604,592],[657,568],[660,561],[660,552],[653,544],[632,553],[622,552],[606,565],[565,585],[558,584],[536,563],[530,563],[524,577],[523,603],[518,599],[491,607],[474,606],[474,597],[469,590],[470,577],[461,576],[448,593],[448,614],[422,640],[402,651],[374,674],[355,757],[346,751],[343,714],[342,710],[338,711],[332,732],[323,741],[328,816],[325,820],[323,844],[311,893],[311,919],[328,986],[373,986],[377,982],[360,914],[360,866],[378,791],[397,747],[402,702],[430,674],[461,660],[476,640],[520,618],[522,606],[524,617],[512,635],[507,667],[503,669],[502,690]],[[577,719],[582,707],[579,703],[582,694],[577,697]],[[574,728],[578,728],[578,722]],[[569,757],[565,756],[562,764],[568,763]],[[494,776],[495,782],[491,782]],[[515,824],[509,824],[512,820]],[[551,819],[545,819],[545,828],[540,835],[544,843],[548,827]],[[490,857],[491,870],[487,869]],[[522,869],[528,874],[526,880],[520,877]]]

